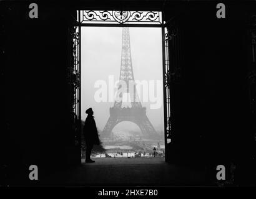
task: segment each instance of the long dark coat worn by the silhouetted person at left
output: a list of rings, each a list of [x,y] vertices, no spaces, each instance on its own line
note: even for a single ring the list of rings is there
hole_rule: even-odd
[[[93,144],[99,145],[99,136],[94,116],[90,114],[88,114],[84,123],[84,139],[86,140],[87,146],[92,146]]]

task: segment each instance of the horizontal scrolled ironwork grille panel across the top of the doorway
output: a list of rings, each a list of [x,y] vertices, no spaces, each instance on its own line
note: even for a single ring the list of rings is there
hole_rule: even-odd
[[[148,24],[161,25],[162,12],[159,11],[77,11],[83,24]]]

